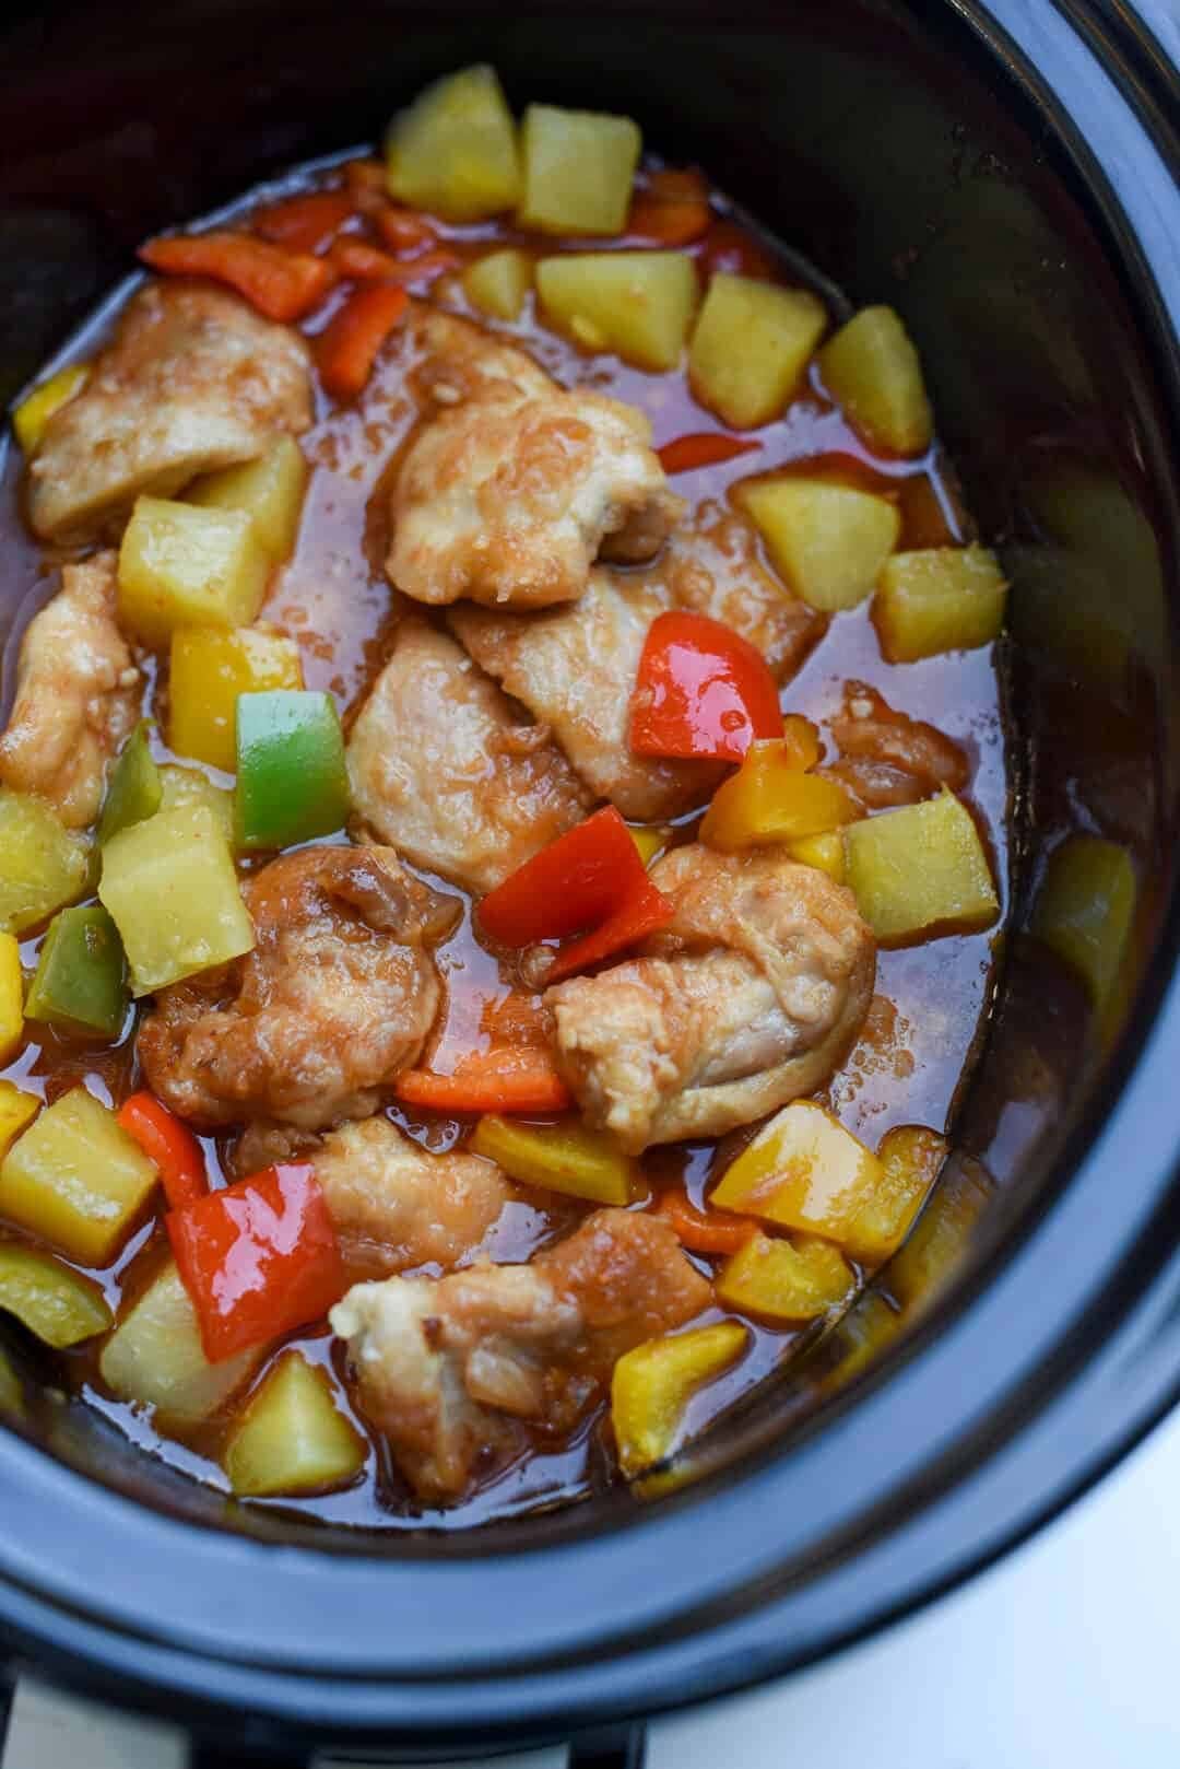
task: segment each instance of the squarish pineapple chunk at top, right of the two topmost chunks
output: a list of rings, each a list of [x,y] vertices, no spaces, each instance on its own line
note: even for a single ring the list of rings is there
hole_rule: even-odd
[[[621,234],[640,147],[630,117],[529,104],[517,221],[541,234]]]

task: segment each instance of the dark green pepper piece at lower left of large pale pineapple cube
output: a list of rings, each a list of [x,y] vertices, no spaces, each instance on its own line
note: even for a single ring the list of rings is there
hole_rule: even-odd
[[[58,1031],[115,1038],[127,1014],[127,966],[106,909],[62,909],[41,943],[25,1015]]]

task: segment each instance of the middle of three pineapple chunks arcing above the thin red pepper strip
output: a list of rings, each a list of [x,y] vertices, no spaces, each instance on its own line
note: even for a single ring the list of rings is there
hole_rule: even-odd
[[[828,311],[810,290],[722,271],[692,334],[692,391],[732,430],[768,425],[785,409],[826,325]]]

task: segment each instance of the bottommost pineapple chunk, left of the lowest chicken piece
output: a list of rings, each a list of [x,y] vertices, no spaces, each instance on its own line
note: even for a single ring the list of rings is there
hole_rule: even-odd
[[[285,1352],[249,1398],[225,1472],[242,1498],[322,1493],[356,1481],[364,1456],[364,1438],[336,1406],[326,1373]]]

